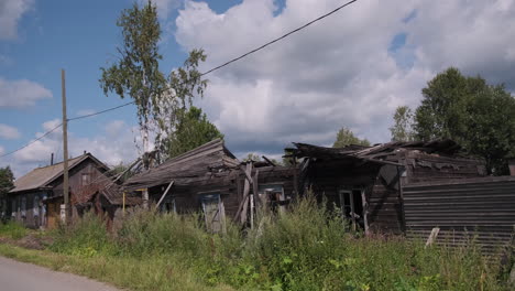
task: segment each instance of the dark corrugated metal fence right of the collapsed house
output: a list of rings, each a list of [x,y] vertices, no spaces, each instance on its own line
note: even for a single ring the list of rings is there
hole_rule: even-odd
[[[475,241],[493,250],[513,244],[515,176],[416,183],[403,187],[408,237],[427,238],[440,228],[437,241]]]

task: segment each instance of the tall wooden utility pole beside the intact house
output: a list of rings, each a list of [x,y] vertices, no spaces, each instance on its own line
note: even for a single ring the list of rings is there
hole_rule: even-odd
[[[64,195],[64,220],[70,222],[69,188],[68,188],[68,118],[66,117],[66,85],[65,71],[61,69],[61,89],[63,96],[63,195]],[[63,211],[63,209],[62,209]]]

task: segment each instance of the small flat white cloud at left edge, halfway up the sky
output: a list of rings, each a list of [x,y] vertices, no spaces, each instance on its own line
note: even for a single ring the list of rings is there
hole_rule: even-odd
[[[37,100],[46,98],[52,98],[52,93],[37,83],[0,77],[0,108],[34,106]]]

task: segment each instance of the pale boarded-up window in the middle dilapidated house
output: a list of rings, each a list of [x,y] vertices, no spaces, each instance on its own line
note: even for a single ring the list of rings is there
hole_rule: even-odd
[[[202,212],[206,219],[207,230],[211,233],[220,233],[223,229],[223,220],[226,217],[223,203],[220,200],[220,194],[201,194],[200,201],[202,204]]]

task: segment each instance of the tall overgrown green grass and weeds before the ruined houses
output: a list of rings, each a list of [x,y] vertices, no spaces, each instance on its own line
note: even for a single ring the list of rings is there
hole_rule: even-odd
[[[211,235],[200,218],[136,211],[108,234],[89,215],[56,231],[51,248],[111,261],[155,260],[155,276],[175,266],[207,284],[242,290],[508,290],[502,268],[474,244],[425,248],[401,237],[364,237],[311,197],[285,213],[260,214],[248,233],[228,222],[224,234]]]

